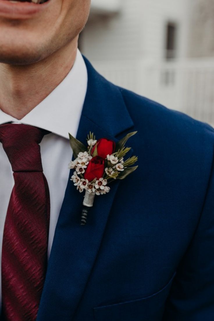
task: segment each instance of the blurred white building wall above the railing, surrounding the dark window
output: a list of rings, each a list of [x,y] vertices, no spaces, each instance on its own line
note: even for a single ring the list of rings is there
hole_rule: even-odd
[[[102,0],[96,0],[96,2]],[[93,61],[161,59],[166,23],[178,23],[178,56],[185,56],[189,0],[123,0],[115,15],[94,14],[82,34],[82,52]]]

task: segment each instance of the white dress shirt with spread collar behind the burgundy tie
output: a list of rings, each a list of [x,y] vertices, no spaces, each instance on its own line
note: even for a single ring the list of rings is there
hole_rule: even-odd
[[[40,143],[43,172],[47,178],[50,191],[48,258],[50,256],[56,223],[69,178],[68,163],[72,158],[72,149],[70,147],[68,133],[71,133],[74,137],[76,136],[87,91],[87,82],[88,74],[86,65],[78,50],[74,65],[64,80],[25,117],[17,120],[0,110],[0,124],[14,122],[37,126],[52,132],[51,134],[45,135]],[[1,143],[0,164],[1,262],[4,222],[14,185],[13,171]]]

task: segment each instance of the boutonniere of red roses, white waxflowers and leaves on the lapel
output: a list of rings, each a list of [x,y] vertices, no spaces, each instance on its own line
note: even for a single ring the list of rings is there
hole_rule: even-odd
[[[74,169],[71,180],[77,190],[85,192],[81,213],[81,225],[86,224],[88,210],[93,206],[95,195],[103,195],[110,191],[109,183],[116,179],[124,179],[138,166],[136,156],[125,155],[130,147],[125,147],[127,140],[137,132],[127,134],[118,143],[107,138],[96,140],[93,133],[87,137],[87,146],[69,134],[74,160],[68,167]]]

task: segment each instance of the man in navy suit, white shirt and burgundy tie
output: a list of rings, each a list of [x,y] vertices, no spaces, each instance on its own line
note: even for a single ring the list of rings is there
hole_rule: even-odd
[[[77,51],[89,10],[0,0],[1,319],[211,321],[214,131],[100,76]],[[137,131],[139,167],[82,226],[68,132],[90,131]]]

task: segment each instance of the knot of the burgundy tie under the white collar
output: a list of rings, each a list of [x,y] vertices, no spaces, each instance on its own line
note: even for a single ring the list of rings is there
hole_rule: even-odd
[[[39,143],[47,133],[24,124],[0,125],[0,142],[14,172],[43,171]]]

